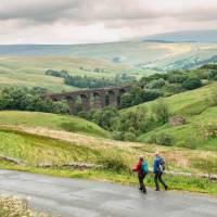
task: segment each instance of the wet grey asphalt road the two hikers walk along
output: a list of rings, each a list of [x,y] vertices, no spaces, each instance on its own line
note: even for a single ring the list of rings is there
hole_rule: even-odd
[[[217,197],[0,170],[0,193],[62,217],[216,217]]]

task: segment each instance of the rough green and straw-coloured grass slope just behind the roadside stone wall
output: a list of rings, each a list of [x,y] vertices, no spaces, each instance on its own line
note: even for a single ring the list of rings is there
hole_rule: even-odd
[[[31,166],[63,165],[75,162],[106,164],[106,161],[111,161],[112,164],[112,161],[114,163],[123,161],[130,167],[139,154],[144,155],[151,165],[153,154],[158,150],[167,158],[169,169],[192,173],[205,169],[200,164],[193,165],[192,159],[205,161],[204,157],[209,156],[209,159],[206,161],[214,163],[217,157],[215,152],[200,152],[138,142],[119,142],[91,136],[84,137],[80,133],[76,133],[76,139],[74,139],[74,132],[68,132],[66,138],[65,133],[59,133],[59,130],[38,131],[35,129],[31,132],[27,131],[28,128],[15,130],[12,127],[1,127],[1,156],[10,156]],[[48,136],[49,131],[53,133]],[[59,136],[56,137],[56,135]],[[104,162],[102,158],[104,158]],[[216,168],[210,167],[209,169],[216,173]]]

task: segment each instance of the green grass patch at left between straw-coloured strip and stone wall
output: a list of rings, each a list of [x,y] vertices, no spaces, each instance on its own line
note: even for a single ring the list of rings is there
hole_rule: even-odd
[[[30,165],[63,165],[73,162],[94,163],[101,153],[88,146],[53,140],[46,137],[16,132],[13,130],[0,131],[0,153]]]

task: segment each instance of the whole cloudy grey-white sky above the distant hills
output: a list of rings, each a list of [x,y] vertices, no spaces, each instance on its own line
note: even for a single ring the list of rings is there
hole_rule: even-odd
[[[0,43],[116,41],[217,29],[217,0],[0,0]]]

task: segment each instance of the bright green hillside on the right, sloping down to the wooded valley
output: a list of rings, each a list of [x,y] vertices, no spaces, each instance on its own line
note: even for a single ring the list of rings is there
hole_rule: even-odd
[[[151,131],[138,138],[140,142],[158,142],[168,140],[168,145],[186,146],[190,149],[202,149],[217,151],[217,107],[212,106],[212,95],[216,92],[217,82],[203,88],[187,91],[165,98],[170,116],[182,116],[186,124],[170,127],[168,124],[153,128]],[[151,108],[157,103],[152,101],[138,106],[123,110],[122,113],[136,111],[138,107]]]

